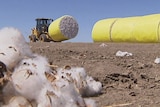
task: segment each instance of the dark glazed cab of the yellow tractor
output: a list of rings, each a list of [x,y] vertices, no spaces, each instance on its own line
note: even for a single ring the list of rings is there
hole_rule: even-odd
[[[37,18],[36,30],[39,32],[39,34],[48,32],[48,27],[52,23],[52,21],[53,19]]]

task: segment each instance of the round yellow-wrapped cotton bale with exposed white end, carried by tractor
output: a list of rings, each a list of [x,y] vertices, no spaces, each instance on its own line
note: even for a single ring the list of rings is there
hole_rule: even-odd
[[[50,24],[48,33],[54,41],[64,41],[74,38],[78,29],[77,21],[72,16],[65,15]]]

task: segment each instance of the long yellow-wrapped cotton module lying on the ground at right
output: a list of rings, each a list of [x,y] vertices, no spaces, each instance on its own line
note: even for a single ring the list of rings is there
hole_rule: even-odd
[[[160,14],[109,18],[95,23],[94,42],[160,42]]]

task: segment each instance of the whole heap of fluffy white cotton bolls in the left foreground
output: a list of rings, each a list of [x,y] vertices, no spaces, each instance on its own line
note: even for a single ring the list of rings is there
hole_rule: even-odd
[[[83,67],[50,64],[18,29],[3,28],[0,37],[1,107],[96,107],[85,97],[100,94],[102,84]]]

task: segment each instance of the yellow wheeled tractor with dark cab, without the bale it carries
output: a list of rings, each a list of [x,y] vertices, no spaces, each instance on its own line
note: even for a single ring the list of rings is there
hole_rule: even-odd
[[[30,42],[42,41],[50,42],[53,41],[48,34],[48,27],[53,22],[53,19],[48,18],[37,18],[36,27],[32,29],[31,35],[29,35]]]

